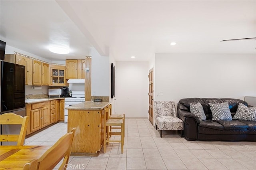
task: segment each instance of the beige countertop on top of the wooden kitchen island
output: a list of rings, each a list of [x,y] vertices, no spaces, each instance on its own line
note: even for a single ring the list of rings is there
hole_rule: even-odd
[[[82,103],[78,103],[76,105],[72,105],[70,107],[66,107],[68,110],[101,110],[104,109],[110,102],[91,102],[85,101]]]

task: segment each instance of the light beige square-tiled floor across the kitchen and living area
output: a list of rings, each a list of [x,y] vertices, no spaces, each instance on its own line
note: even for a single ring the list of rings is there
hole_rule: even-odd
[[[67,124],[57,123],[27,138],[26,144],[52,145],[66,132]],[[70,157],[69,168],[256,170],[256,142],[187,141],[176,131],[163,131],[160,138],[147,119],[126,119],[124,154],[119,143],[110,143],[98,157]]]

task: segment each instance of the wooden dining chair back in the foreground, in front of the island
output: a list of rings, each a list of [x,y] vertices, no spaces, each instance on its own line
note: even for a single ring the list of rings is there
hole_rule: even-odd
[[[59,170],[66,170],[76,128],[64,134],[38,159],[37,170],[52,170],[63,159]]]

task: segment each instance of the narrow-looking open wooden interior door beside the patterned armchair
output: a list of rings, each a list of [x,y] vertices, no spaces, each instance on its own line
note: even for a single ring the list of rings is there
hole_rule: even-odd
[[[148,74],[149,81],[149,91],[148,91],[148,99],[149,99],[149,107],[148,107],[148,120],[152,125],[154,125],[154,112],[153,112],[153,103],[154,103],[154,86],[153,86],[153,68],[149,70]]]

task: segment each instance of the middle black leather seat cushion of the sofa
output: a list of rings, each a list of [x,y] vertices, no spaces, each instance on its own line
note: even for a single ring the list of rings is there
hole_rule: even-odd
[[[225,130],[249,128],[248,125],[246,125],[245,123],[239,122],[239,121],[219,120],[216,122],[221,124]]]

